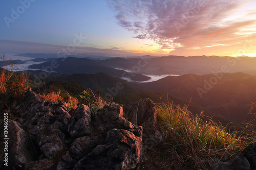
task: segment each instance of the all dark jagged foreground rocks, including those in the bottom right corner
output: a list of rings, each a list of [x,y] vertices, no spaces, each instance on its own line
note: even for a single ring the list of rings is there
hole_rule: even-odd
[[[69,112],[66,103],[45,101],[29,90],[17,104],[13,101],[10,112],[19,117],[8,121],[8,167],[0,152],[1,170],[136,169],[142,148],[162,141],[150,99],[124,107],[105,105],[94,113],[80,105]],[[4,143],[3,129],[0,119],[0,143]],[[0,151],[4,147],[0,144]],[[202,162],[209,169],[255,169],[256,142],[226,160]]]

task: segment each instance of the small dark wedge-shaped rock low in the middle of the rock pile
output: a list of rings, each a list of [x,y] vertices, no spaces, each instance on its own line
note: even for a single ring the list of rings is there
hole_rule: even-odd
[[[101,136],[83,136],[76,138],[71,145],[70,152],[75,159],[80,160],[89,154],[101,139]]]

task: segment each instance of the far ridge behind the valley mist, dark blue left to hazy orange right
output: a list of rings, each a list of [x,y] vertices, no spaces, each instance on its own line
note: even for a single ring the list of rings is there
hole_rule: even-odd
[[[50,60],[47,63],[31,65],[30,68],[42,69],[42,66],[49,66],[51,64]],[[123,77],[123,70],[125,70],[126,72],[137,74],[136,77],[132,77],[134,81],[148,79],[144,77],[146,75],[185,75],[190,73],[206,75],[220,71],[229,73],[245,72],[256,76],[256,57],[165,56],[152,58],[152,56],[141,56],[139,58],[111,57],[100,59],[91,56],[88,58],[59,58],[56,61],[59,67],[55,71],[60,73],[72,75],[105,72],[120,78]]]

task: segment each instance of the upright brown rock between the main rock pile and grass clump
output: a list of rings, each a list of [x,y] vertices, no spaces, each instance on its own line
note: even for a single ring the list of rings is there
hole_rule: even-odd
[[[157,130],[157,109],[150,99],[143,99],[123,107],[124,117],[131,123],[143,127],[143,142],[152,148],[163,138]]]

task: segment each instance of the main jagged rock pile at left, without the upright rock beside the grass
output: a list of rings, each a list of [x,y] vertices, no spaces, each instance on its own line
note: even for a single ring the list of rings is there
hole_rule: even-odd
[[[66,103],[45,101],[31,90],[25,99],[11,111],[22,113],[16,121],[9,119],[9,167],[3,169],[14,165],[15,169],[134,169],[139,165],[143,128],[124,118],[119,105],[105,105],[95,113],[81,105],[70,115]],[[1,143],[2,139],[3,133]]]

